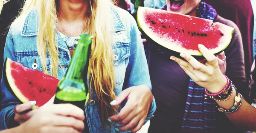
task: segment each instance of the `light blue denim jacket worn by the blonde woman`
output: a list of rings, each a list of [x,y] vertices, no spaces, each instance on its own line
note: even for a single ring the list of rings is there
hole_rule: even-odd
[[[151,89],[147,61],[136,21],[127,11],[121,8],[111,7],[111,10],[114,17],[113,26],[110,26],[113,27],[115,40],[115,45],[113,45],[113,52],[115,54],[113,54],[113,65],[116,76],[116,96],[122,90],[131,86],[145,84]],[[21,17],[12,23],[6,39],[4,60],[8,57],[12,61],[17,61],[30,69],[43,71],[36,46],[37,25],[38,14],[35,10],[30,11],[27,16]],[[61,66],[68,66],[71,60],[70,52],[59,34],[57,35],[57,43]],[[35,60],[38,67],[32,66]],[[47,69],[50,69],[50,67],[50,60],[47,57]],[[66,67],[62,68],[64,72],[62,69],[59,69],[58,79],[64,78],[67,71]],[[117,126],[116,123],[109,126],[110,130],[106,130],[102,126],[97,102],[97,96],[94,95],[92,100],[88,101],[85,106],[90,133],[119,133],[114,130]],[[14,118],[14,107],[18,103],[20,101],[7,89],[2,78],[0,130],[8,128],[8,125],[12,125],[10,122]],[[90,108],[88,108],[89,106]],[[145,122],[153,117],[155,110],[156,105],[155,100],[153,100]]]

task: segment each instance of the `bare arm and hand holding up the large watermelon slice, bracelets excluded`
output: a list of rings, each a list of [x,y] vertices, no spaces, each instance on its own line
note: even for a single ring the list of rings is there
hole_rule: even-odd
[[[173,56],[171,59],[176,61],[199,86],[203,86],[212,94],[216,94],[227,85],[227,79],[218,68],[217,58],[203,45],[198,45],[198,47],[207,59],[205,64],[199,63],[191,55],[184,53],[181,53],[180,56],[186,59],[186,61]],[[235,82],[233,84],[236,85]],[[233,90],[230,99],[227,101],[217,101],[217,103],[221,108],[230,109],[235,103],[235,96],[236,91]],[[236,108],[238,108],[239,103]],[[245,131],[256,130],[256,108],[248,104],[245,100],[242,100],[241,106],[236,112],[226,115],[239,129]]]

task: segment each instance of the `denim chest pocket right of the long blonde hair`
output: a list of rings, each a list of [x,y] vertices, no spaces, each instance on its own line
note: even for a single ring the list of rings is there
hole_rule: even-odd
[[[120,43],[113,47],[113,63],[116,75],[116,84],[121,84],[125,79],[126,67],[130,56],[130,43]]]

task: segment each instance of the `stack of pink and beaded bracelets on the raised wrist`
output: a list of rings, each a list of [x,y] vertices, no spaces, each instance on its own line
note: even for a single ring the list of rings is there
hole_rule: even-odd
[[[225,76],[225,78],[227,78],[227,76]],[[206,97],[208,96],[208,97],[214,99],[215,101],[219,101],[219,102],[229,100],[233,94],[233,91],[236,91],[236,96],[234,97],[235,102],[230,109],[220,108],[217,105],[218,111],[223,112],[225,114],[236,112],[240,108],[242,100],[243,100],[242,95],[237,92],[236,86],[233,85],[232,81],[229,78],[227,78],[227,85],[220,92],[218,92],[216,94],[211,94],[206,88],[204,89],[204,91],[205,91]],[[237,106],[238,103],[239,103],[239,105]]]

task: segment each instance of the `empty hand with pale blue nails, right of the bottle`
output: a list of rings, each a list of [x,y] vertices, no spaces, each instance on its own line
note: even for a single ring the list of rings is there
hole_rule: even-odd
[[[127,100],[121,111],[109,117],[112,122],[117,122],[123,126],[117,127],[120,131],[130,130],[135,133],[143,126],[148,115],[148,110],[153,101],[153,95],[148,86],[133,86],[122,91],[111,105],[119,105]]]

